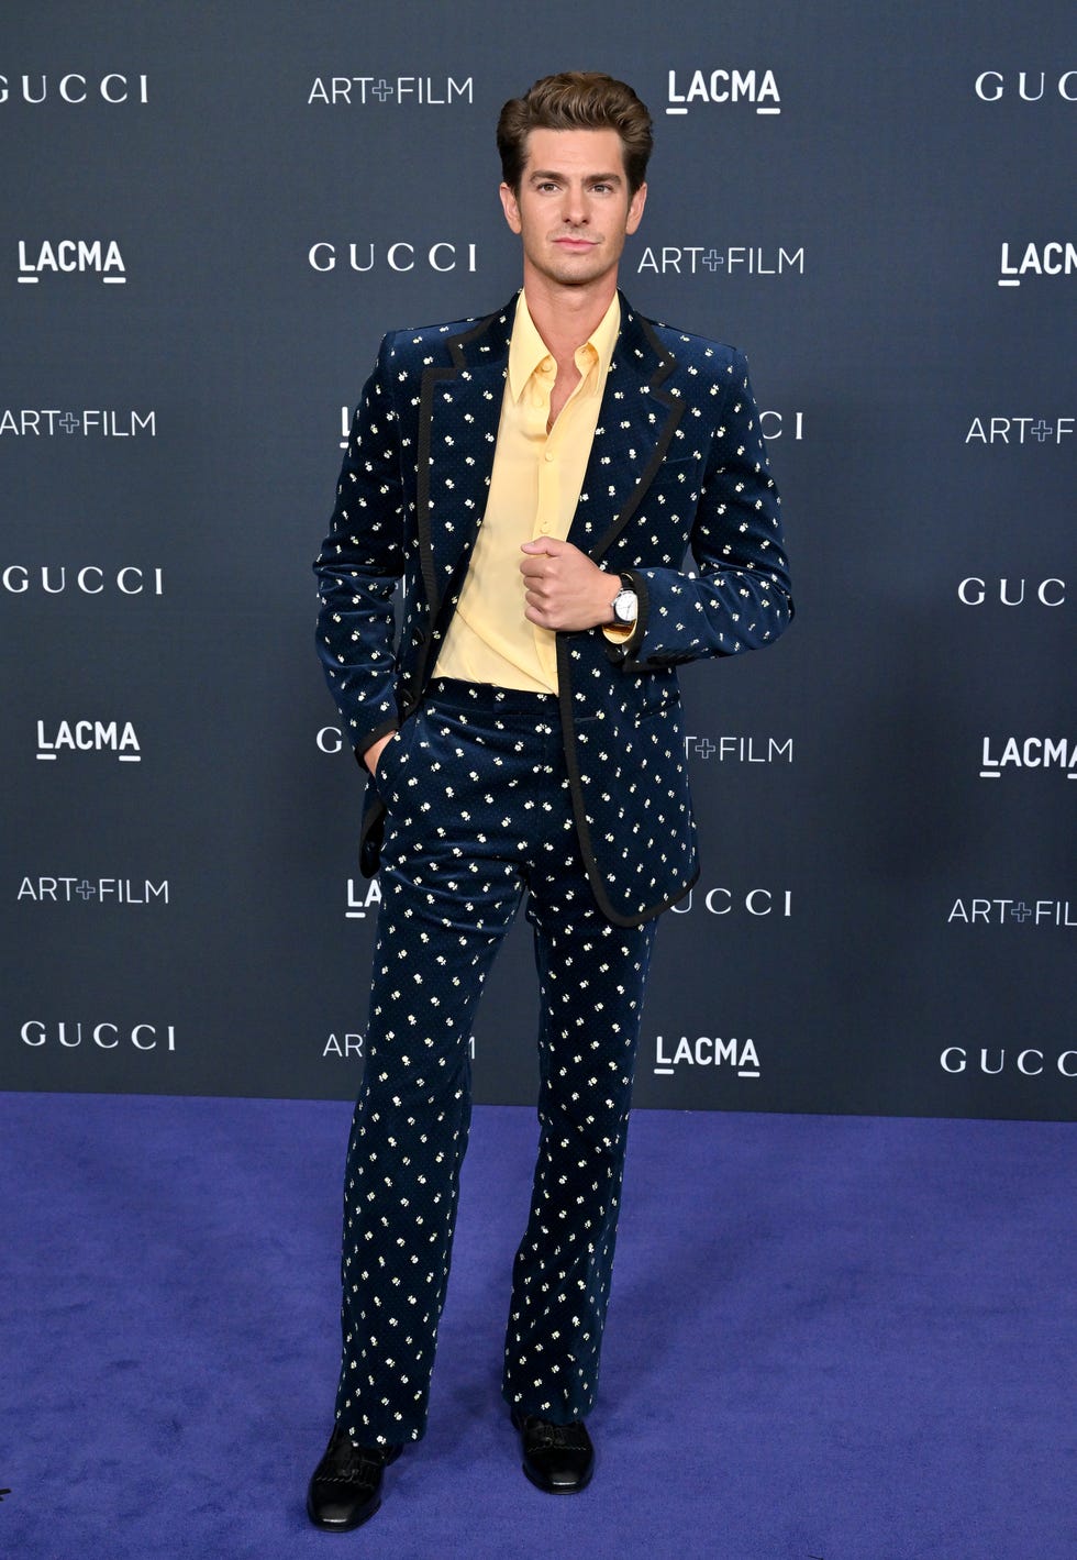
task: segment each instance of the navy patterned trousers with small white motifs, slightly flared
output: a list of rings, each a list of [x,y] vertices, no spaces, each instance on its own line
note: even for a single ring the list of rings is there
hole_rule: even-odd
[[[611,925],[580,855],[552,694],[435,680],[388,743],[366,1065],[344,1175],[337,1418],[419,1440],[471,1119],[471,1031],[527,899],[539,981],[539,1151],[513,1264],[503,1396],[594,1402],[655,922]]]

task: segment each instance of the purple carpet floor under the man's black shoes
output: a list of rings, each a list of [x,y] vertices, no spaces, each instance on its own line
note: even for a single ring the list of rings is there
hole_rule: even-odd
[[[0,1555],[1074,1560],[1072,1128],[637,1112],[591,1488],[499,1398],[531,1112],[482,1108],[430,1431],[315,1532],[334,1103],[0,1095]]]

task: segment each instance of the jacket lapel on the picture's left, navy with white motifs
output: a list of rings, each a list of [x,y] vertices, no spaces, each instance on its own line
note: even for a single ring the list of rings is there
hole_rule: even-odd
[[[430,619],[463,577],[494,470],[516,300],[446,342],[452,368],[427,367],[419,392],[418,535]]]

